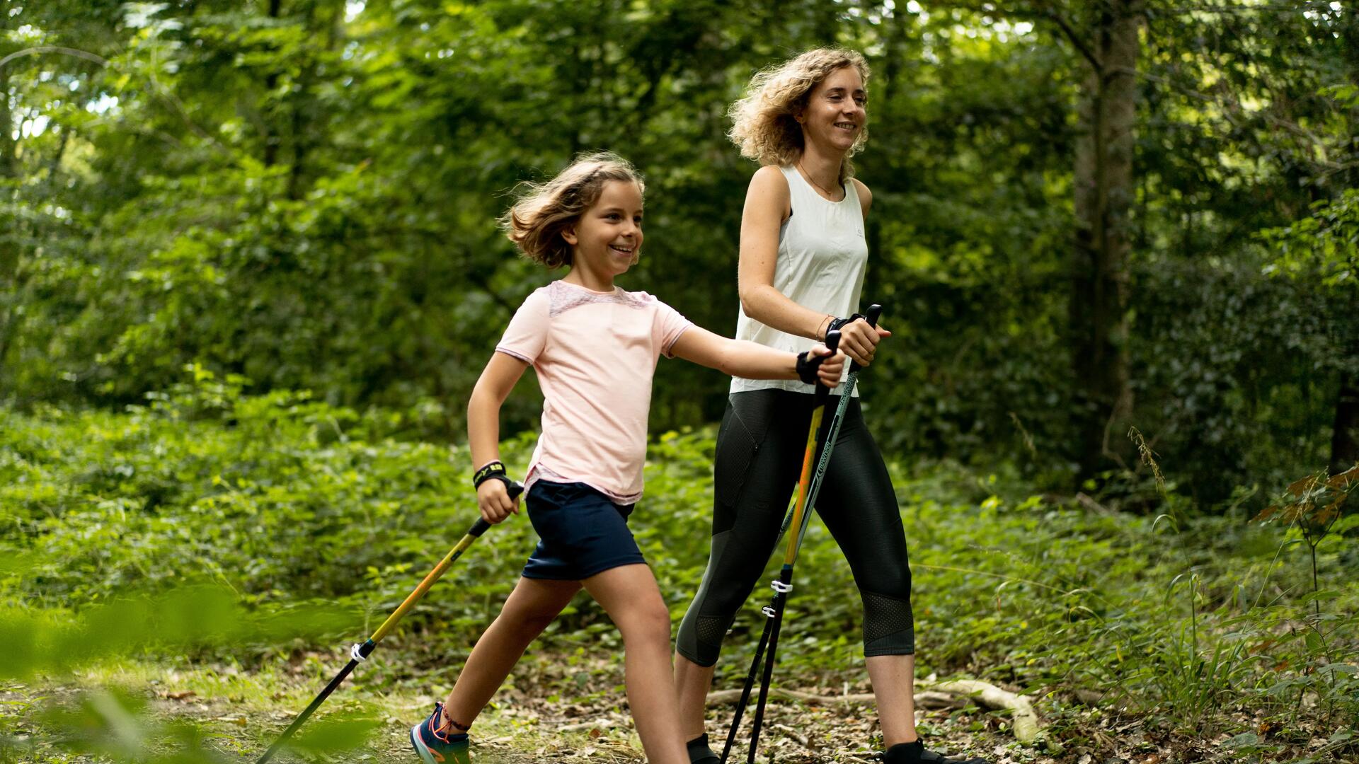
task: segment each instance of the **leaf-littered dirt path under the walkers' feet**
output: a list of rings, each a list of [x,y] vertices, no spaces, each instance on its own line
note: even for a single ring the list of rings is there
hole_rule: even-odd
[[[109,750],[106,738],[120,729],[139,730],[136,734],[148,753],[183,750],[183,734],[175,733],[177,725],[194,730],[205,761],[254,761],[325,684],[334,670],[329,665],[333,662],[328,655],[304,657],[279,673],[231,665],[118,666],[90,672],[68,684],[34,680],[0,687],[4,722],[0,733],[10,740],[8,746],[0,740],[0,764],[91,761],[71,754],[94,748]],[[304,735],[323,731],[337,719],[363,718],[368,722],[360,745],[334,752],[288,752],[276,761],[417,764],[408,730],[434,706],[429,677],[431,672],[409,666],[371,667],[332,696],[303,727]],[[841,685],[853,692],[867,689],[843,682],[829,687]],[[121,688],[117,699],[101,689],[105,687]],[[834,693],[829,687],[803,689]],[[716,741],[715,748],[724,740],[730,718],[730,706],[709,715],[708,734]],[[75,725],[73,719],[83,722]],[[917,722],[935,749],[981,754],[996,764],[1059,760],[1041,749],[1018,746],[1003,729],[1003,719],[976,708],[921,711]],[[57,735],[54,729],[63,733]],[[749,738],[749,715],[746,730],[734,753],[741,759]],[[814,707],[775,700],[766,712],[760,760],[867,763],[874,750],[870,746],[881,742],[877,733],[871,706]],[[473,756],[478,764],[641,764],[641,744],[626,714],[618,662],[580,655],[527,657],[492,707],[477,719]],[[94,761],[113,760],[110,756]]]

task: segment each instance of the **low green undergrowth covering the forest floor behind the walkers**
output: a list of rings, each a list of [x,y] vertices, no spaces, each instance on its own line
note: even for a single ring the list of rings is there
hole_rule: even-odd
[[[401,417],[300,393],[246,396],[238,382],[190,372],[121,415],[7,412],[0,506],[15,561],[0,587],[24,605],[4,617],[5,676],[160,655],[268,665],[299,646],[359,640],[474,517],[465,454],[450,461],[446,449],[386,438]],[[512,472],[527,447],[506,443]],[[632,522],[675,620],[707,561],[712,447],[709,430],[656,438]],[[1086,734],[1089,711],[1074,696],[1192,734],[1242,733],[1242,714],[1264,719],[1276,734],[1252,744],[1261,750],[1329,735],[1359,714],[1359,601],[1344,572],[1351,518],[1309,559],[1299,523],[1055,504],[1008,469],[890,469],[911,541],[921,676],[1018,687],[1040,699],[1057,740]],[[1330,480],[1332,492],[1352,485]],[[1335,503],[1314,493],[1303,489],[1318,508]],[[461,661],[533,542],[523,517],[488,532],[353,681],[385,687],[419,677],[421,661]],[[813,684],[855,676],[862,613],[818,522],[798,579],[781,670]],[[743,677],[762,604],[757,593],[738,614],[719,688]],[[548,648],[620,646],[584,597],[544,639]]]

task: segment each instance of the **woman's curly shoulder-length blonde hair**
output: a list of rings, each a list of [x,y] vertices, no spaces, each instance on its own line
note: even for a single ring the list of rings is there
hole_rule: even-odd
[[[731,105],[731,132],[727,137],[741,147],[741,155],[761,164],[792,164],[802,156],[802,125],[794,116],[807,105],[817,83],[832,72],[853,67],[868,87],[868,63],[855,50],[815,48],[796,58],[760,71],[746,86],[746,95]],[[858,154],[868,131],[855,139],[840,164],[840,182],[853,177],[849,158]]]

